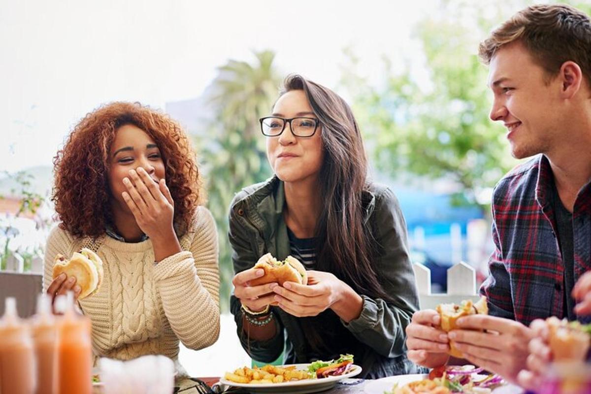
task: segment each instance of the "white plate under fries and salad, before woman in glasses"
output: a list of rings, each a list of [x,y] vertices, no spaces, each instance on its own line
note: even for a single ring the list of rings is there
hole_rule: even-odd
[[[295,365],[297,370],[307,370],[310,364],[290,364],[282,365],[282,367],[289,367],[291,365]],[[339,376],[322,377],[320,379],[304,379],[284,383],[268,383],[267,385],[251,385],[249,383],[230,382],[222,377],[220,383],[227,386],[247,388],[251,393],[305,394],[331,389],[339,380],[359,375],[359,373],[361,373],[361,367],[353,364],[348,373]]]

